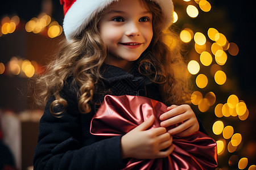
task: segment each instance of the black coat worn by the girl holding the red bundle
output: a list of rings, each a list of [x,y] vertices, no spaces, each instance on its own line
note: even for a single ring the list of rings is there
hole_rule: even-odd
[[[137,69],[127,73],[119,67],[104,65],[101,70],[104,80],[98,83],[97,92],[93,97],[94,103],[101,103],[106,94],[139,95],[162,101],[158,85],[139,74]],[[125,160],[121,159],[121,136],[102,138],[90,134],[90,121],[99,105],[91,103],[90,113],[80,113],[77,107],[79,87],[71,83],[71,79],[67,82],[61,91],[61,96],[68,103],[62,117],[53,117],[49,112],[49,105],[53,101],[53,97],[50,97],[40,120],[34,168],[124,168]],[[200,129],[205,132],[203,126],[200,126]]]

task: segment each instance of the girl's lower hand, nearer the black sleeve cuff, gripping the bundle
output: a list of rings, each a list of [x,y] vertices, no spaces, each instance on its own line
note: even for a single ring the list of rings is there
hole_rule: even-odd
[[[164,158],[174,150],[172,136],[166,128],[149,129],[155,117],[151,116],[121,138],[122,159],[155,159]],[[164,150],[166,149],[166,150]]]

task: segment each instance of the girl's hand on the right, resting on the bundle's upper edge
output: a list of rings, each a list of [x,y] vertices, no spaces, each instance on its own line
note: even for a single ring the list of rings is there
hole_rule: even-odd
[[[159,118],[162,121],[160,126],[164,128],[181,123],[176,128],[168,130],[171,135],[184,137],[199,130],[196,115],[187,104],[171,105],[171,107],[167,108],[167,112],[163,113]]]

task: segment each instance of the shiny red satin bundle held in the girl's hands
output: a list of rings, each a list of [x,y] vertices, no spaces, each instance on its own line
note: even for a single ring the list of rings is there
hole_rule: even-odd
[[[110,96],[94,115],[90,133],[113,137],[126,134],[152,114],[155,122],[151,128],[160,127],[159,116],[167,106],[159,101],[142,96]],[[133,159],[124,169],[214,169],[217,167],[216,142],[208,135],[197,131],[186,137],[173,136],[174,151],[167,158]]]

